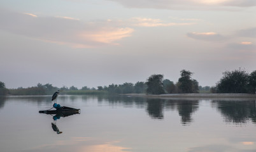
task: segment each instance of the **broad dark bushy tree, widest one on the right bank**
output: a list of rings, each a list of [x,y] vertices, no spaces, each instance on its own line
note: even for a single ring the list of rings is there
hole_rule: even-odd
[[[225,71],[223,77],[217,82],[217,92],[220,93],[246,93],[248,86],[248,73],[245,70]]]

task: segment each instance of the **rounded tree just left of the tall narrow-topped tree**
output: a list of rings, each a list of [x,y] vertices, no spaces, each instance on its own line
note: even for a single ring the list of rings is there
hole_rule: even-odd
[[[147,89],[146,93],[148,94],[164,94],[164,86],[162,84],[162,79],[164,78],[164,75],[156,75],[153,74],[150,77],[148,77],[148,80],[146,81]]]

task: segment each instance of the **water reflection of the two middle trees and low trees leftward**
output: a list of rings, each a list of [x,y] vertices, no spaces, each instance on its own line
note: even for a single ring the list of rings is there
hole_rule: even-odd
[[[199,100],[194,99],[157,99],[136,98],[131,96],[97,96],[99,104],[108,102],[111,106],[124,106],[125,108],[145,108],[150,118],[164,119],[164,110],[178,111],[181,124],[193,122],[192,113],[199,108]]]

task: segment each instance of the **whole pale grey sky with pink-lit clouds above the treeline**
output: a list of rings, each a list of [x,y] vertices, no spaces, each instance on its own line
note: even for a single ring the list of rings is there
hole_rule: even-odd
[[[78,89],[177,82],[213,86],[256,70],[255,0],[2,0],[0,81]]]

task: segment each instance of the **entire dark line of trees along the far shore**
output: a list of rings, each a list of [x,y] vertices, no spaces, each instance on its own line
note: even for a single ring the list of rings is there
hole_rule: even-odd
[[[4,82],[0,81],[0,95],[51,95],[58,89],[62,90],[62,94],[180,94],[180,93],[252,93],[255,94],[256,89],[256,70],[248,73],[239,68],[234,71],[225,71],[223,77],[217,82],[216,86],[202,87],[197,80],[192,79],[193,73],[188,70],[180,71],[180,78],[174,84],[169,79],[164,79],[164,75],[153,74],[146,82],[136,82],[132,84],[125,82],[124,84],[110,84],[108,86],[98,86],[97,89],[87,86],[78,89],[71,87],[54,87],[52,84],[37,84],[34,87],[18,87],[17,89],[6,89]]]

